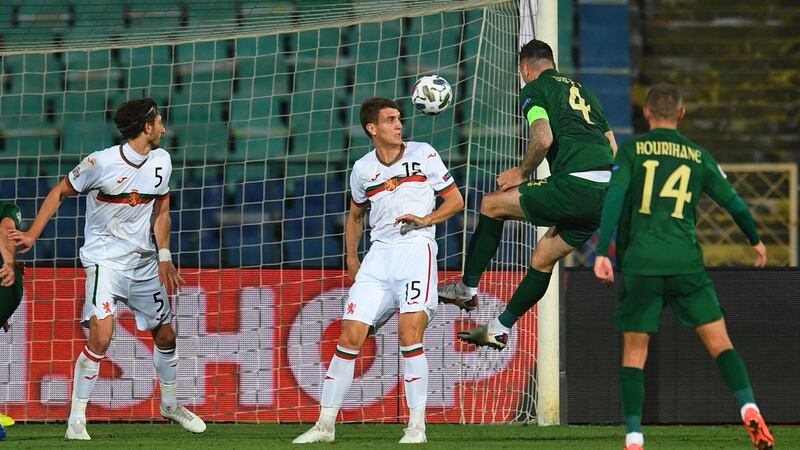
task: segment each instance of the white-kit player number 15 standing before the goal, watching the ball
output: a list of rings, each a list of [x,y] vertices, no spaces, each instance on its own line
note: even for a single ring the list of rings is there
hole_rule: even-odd
[[[355,281],[345,303],[341,334],[322,387],[319,420],[293,443],[332,442],[334,424],[353,382],[355,359],[370,328],[400,311],[398,332],[404,362],[408,428],[400,443],[423,443],[428,362],[422,345],[436,314],[435,226],[464,207],[464,200],[438,152],[422,142],[403,142],[397,103],[371,98],[361,104],[361,125],[375,149],[356,161],[345,225],[347,270]],[[434,210],[436,195],[444,202]],[[372,245],[363,264],[358,243],[367,206]]]

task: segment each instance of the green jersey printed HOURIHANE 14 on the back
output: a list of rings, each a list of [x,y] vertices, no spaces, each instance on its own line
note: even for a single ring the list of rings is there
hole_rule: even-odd
[[[678,130],[652,130],[620,146],[611,184],[627,190],[617,229],[625,274],[704,270],[695,207],[704,192],[720,205],[737,195],[707,150]]]

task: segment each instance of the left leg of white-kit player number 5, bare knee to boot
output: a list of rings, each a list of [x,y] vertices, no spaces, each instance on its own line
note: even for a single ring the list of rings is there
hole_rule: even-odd
[[[98,276],[97,271],[99,269],[96,268],[94,275],[89,272],[87,284],[94,279],[92,276]],[[87,292],[94,291],[87,290]],[[86,431],[86,406],[89,404],[94,385],[97,384],[100,362],[108,350],[113,332],[113,315],[105,315],[102,319],[98,319],[95,315],[89,319],[89,342],[75,361],[75,372],[72,379],[72,407],[67,420],[67,432],[64,435],[67,439],[91,439]]]

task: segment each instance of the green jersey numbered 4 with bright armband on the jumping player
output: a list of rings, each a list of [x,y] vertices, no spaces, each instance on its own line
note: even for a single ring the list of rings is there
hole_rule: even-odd
[[[545,118],[553,130],[547,152],[550,172],[573,173],[610,166],[614,153],[605,132],[608,126],[597,97],[580,83],[548,69],[522,88],[522,114],[533,123]]]

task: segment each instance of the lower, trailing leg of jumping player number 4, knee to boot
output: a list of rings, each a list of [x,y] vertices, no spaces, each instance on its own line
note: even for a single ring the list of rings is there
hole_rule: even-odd
[[[556,229],[550,228],[536,244],[536,249],[531,257],[532,267],[528,269],[528,273],[514,291],[514,295],[503,313],[487,325],[459,332],[458,337],[475,345],[488,346],[497,350],[504,349],[508,343],[511,328],[520,317],[541,300],[547,291],[556,262],[572,250],[573,247],[556,234]]]

